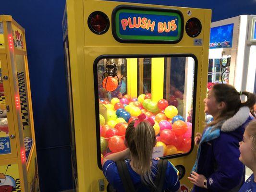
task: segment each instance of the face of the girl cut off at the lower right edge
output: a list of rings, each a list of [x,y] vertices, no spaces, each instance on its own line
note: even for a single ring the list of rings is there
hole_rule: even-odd
[[[239,160],[250,168],[251,165],[254,165],[255,163],[255,154],[252,150],[252,140],[246,130],[244,132],[243,141],[241,141],[239,145],[239,150],[241,153]]]

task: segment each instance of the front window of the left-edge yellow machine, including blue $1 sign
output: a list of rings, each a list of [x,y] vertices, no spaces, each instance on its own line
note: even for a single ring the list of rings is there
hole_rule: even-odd
[[[3,63],[0,62],[0,155],[11,153],[1,64]]]

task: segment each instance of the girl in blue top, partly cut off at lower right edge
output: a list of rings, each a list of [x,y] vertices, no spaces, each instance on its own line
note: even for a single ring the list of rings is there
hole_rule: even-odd
[[[239,143],[239,160],[253,171],[239,192],[256,192],[256,120],[245,128],[243,141]]]

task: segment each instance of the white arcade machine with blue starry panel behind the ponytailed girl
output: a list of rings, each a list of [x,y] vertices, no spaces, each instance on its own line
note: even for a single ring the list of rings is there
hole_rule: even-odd
[[[256,93],[256,15],[211,23],[208,82]]]

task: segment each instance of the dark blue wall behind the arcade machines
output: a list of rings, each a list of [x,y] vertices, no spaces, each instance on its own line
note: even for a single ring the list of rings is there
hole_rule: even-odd
[[[121,0],[126,1],[126,0]],[[256,14],[256,0],[129,0],[212,9],[212,21]],[[65,0],[4,0],[25,28],[41,192],[72,188],[68,109],[61,21]]]

